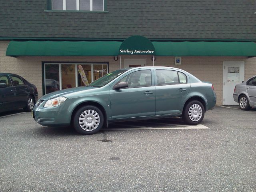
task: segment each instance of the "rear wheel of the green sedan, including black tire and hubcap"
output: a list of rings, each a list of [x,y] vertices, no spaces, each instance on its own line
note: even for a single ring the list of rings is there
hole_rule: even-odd
[[[204,119],[204,105],[197,100],[190,101],[183,110],[182,119],[189,125],[201,123]]]

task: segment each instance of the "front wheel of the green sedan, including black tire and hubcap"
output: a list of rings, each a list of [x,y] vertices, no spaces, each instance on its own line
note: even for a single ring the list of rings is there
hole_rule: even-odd
[[[80,120],[80,116],[84,118],[84,120]],[[104,116],[101,110],[92,105],[83,106],[78,109],[73,119],[75,130],[83,135],[95,134],[102,128],[103,124]]]

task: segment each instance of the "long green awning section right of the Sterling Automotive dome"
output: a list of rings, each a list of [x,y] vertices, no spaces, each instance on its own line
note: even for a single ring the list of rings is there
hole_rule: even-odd
[[[256,56],[254,42],[152,42],[156,56]]]

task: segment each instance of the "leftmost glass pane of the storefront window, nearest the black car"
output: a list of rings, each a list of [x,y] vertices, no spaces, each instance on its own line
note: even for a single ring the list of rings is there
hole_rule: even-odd
[[[60,74],[58,64],[45,65],[45,93],[51,93],[60,90]]]

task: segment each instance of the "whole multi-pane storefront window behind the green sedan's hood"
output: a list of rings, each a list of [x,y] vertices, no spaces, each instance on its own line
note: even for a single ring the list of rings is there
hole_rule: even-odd
[[[86,86],[108,73],[108,64],[44,64],[45,94]]]

